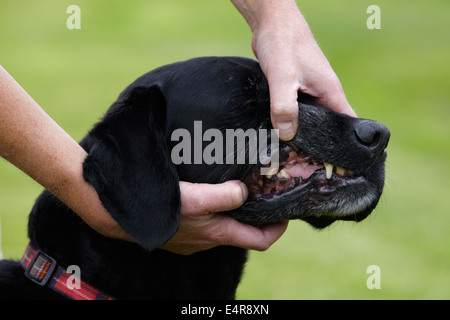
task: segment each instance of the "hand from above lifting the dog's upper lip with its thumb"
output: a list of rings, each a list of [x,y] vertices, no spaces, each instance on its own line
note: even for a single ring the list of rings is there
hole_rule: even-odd
[[[252,49],[269,83],[272,125],[279,129],[281,139],[290,140],[297,132],[298,91],[356,117],[295,1],[233,3],[252,30]]]

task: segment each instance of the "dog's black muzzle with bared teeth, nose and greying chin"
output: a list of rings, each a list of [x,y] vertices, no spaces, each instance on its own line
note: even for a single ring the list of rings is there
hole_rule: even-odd
[[[235,217],[255,224],[302,219],[317,228],[363,220],[383,191],[389,137],[379,122],[299,96],[296,136],[280,141],[278,168],[261,175],[257,165],[245,176],[250,195]]]

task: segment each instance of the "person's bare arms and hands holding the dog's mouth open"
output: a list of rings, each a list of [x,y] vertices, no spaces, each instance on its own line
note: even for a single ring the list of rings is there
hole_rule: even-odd
[[[252,49],[269,82],[271,120],[283,140],[298,126],[297,92],[326,107],[356,116],[342,86],[293,0],[232,0],[252,30]],[[301,115],[300,115],[301,116]],[[20,168],[107,237],[133,241],[83,179],[87,156],[45,111],[0,67],[0,155]],[[263,228],[240,223],[221,211],[239,207],[248,191],[240,181],[180,182],[181,223],[162,248],[191,254],[218,245],[266,250],[287,222]]]

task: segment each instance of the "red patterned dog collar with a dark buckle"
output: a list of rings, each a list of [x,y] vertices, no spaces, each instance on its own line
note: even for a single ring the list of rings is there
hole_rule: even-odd
[[[47,285],[66,298],[73,300],[114,300],[111,296],[99,291],[80,279],[80,288],[68,286],[68,280],[73,277],[66,269],[58,266],[56,261],[28,244],[20,259],[20,265],[25,269],[25,276],[40,286]]]

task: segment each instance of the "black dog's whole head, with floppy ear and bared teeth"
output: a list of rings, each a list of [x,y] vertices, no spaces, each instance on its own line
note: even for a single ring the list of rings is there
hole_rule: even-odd
[[[297,135],[277,147],[256,61],[208,57],[158,68],[125,89],[83,141],[85,178],[147,249],[178,227],[179,181],[244,181],[248,200],[227,214],[254,225],[364,219],[383,190],[389,130],[307,95],[298,105]]]

